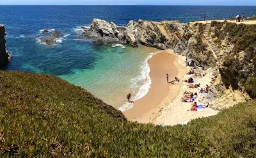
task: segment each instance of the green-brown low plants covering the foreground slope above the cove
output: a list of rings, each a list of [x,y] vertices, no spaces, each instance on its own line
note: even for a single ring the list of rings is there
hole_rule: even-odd
[[[0,71],[0,157],[254,157],[255,129],[255,101],[161,127],[57,77]]]

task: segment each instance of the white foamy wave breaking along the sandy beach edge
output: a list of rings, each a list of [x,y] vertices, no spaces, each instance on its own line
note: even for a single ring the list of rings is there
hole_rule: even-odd
[[[161,52],[161,51],[159,51]],[[147,93],[148,90],[150,88],[150,85],[152,83],[150,76],[149,76],[149,72],[150,72],[150,67],[148,65],[148,59],[152,58],[152,56],[154,56],[155,54],[159,53],[159,52],[155,52],[155,53],[151,53],[146,59],[145,61],[143,61],[143,65],[141,66],[141,75],[139,75],[138,77],[135,77],[134,79],[131,80],[131,88],[134,87],[138,87],[140,84],[142,83],[142,86],[140,86],[140,90],[138,91],[138,93],[135,95],[135,97],[133,97],[131,100],[139,100],[142,97],[144,97]],[[120,106],[118,109],[122,112],[131,109],[133,107],[133,103],[129,103],[126,102],[123,106]]]

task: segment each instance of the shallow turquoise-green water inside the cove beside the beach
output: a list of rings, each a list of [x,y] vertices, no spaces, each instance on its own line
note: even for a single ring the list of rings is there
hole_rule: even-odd
[[[74,69],[72,74],[58,77],[86,88],[104,102],[119,107],[127,101],[128,93],[132,93],[133,98],[139,95],[138,91],[148,77],[146,58],[151,52],[156,50],[143,46],[122,48],[103,45],[92,52],[95,56],[93,68]]]

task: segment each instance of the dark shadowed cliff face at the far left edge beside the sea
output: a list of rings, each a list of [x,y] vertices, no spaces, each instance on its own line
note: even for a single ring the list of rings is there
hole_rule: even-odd
[[[3,25],[0,25],[0,69],[3,68],[10,61],[10,57],[5,49],[5,35],[5,28]]]

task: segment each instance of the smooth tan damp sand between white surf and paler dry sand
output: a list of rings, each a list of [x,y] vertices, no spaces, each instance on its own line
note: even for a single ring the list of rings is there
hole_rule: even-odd
[[[148,60],[148,65],[152,84],[147,95],[136,100],[131,109],[124,111],[128,120],[140,123],[154,123],[155,118],[161,115],[161,109],[179,95],[182,83],[168,84],[166,74],[169,74],[169,81],[171,81],[174,77],[182,78],[186,73],[186,68],[181,67],[177,62],[177,56],[171,50],[155,54]]]

